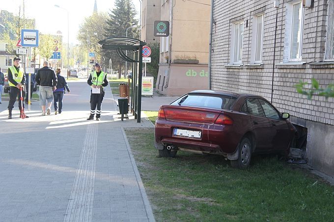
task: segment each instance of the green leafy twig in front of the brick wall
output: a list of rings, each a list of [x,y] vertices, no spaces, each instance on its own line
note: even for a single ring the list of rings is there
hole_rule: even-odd
[[[307,99],[312,99],[314,95],[324,96],[326,99],[334,97],[334,83],[329,84],[325,89],[319,85],[319,82],[312,78],[311,88],[307,87],[309,83],[302,80],[296,85],[297,92],[307,96]]]

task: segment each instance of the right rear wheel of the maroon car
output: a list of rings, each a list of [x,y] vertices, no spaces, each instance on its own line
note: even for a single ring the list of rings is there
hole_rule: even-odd
[[[251,150],[251,140],[247,137],[242,138],[238,149],[238,159],[230,160],[231,167],[237,169],[247,169],[251,163]]]

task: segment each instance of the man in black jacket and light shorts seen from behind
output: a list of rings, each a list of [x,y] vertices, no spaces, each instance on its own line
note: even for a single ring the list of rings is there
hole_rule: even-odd
[[[42,106],[42,115],[45,116],[46,102],[47,114],[51,114],[51,103],[54,99],[53,90],[56,90],[57,76],[53,69],[48,67],[48,61],[43,62],[43,68],[37,71],[36,83],[39,85],[39,104]]]

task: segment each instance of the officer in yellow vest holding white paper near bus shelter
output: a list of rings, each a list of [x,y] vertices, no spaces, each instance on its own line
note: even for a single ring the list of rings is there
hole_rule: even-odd
[[[90,115],[87,120],[94,119],[96,109],[96,120],[99,121],[101,119],[101,104],[105,95],[103,87],[108,86],[107,74],[102,72],[99,63],[95,63],[95,71],[90,73],[87,83],[91,86]]]

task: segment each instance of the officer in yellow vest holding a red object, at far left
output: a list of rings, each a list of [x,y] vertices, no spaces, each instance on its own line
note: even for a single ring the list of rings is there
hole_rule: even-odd
[[[26,75],[24,70],[20,67],[20,58],[14,57],[13,63],[14,65],[8,68],[8,83],[10,86],[10,95],[9,95],[9,103],[8,103],[8,119],[12,119],[12,110],[14,108],[15,100],[18,98],[19,109],[25,109],[25,104],[22,102],[23,107],[21,107],[21,94],[20,88],[22,87],[22,97],[25,98],[25,91],[23,90],[23,86],[26,83]],[[26,116],[28,118],[28,116]]]

